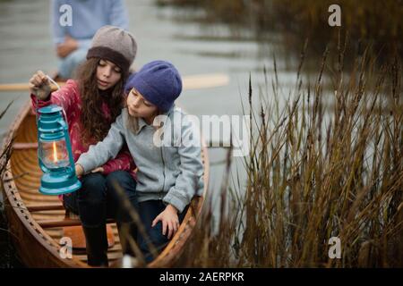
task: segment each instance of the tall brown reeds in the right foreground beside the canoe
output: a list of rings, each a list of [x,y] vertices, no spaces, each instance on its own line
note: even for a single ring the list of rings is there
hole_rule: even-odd
[[[300,64],[284,107],[277,74],[262,88],[259,109],[250,80],[254,128],[245,191],[223,185],[229,207],[219,231],[206,211],[177,265],[403,266],[402,60],[390,57],[377,71],[367,49],[346,73],[346,46],[338,50],[334,68],[324,52],[313,86],[301,79]],[[334,104],[325,112],[326,69]],[[328,256],[331,237],[341,241],[339,259]]]

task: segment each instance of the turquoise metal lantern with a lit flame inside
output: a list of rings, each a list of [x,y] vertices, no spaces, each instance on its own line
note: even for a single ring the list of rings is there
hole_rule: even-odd
[[[45,195],[61,195],[81,188],[74,169],[72,145],[62,107],[49,105],[39,109],[38,157],[44,174],[39,191]]]

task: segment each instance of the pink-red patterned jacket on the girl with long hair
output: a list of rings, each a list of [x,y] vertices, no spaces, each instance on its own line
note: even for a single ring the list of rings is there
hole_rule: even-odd
[[[51,94],[49,100],[38,100],[38,105],[37,99],[34,95],[30,95],[30,98],[34,112],[36,112],[38,107],[40,108],[47,105],[59,105],[64,108],[69,126],[70,140],[72,141],[74,162],[77,162],[82,153],[88,151],[91,144],[97,143],[95,140],[92,142],[82,142],[81,140],[82,125],[80,115],[82,103],[80,91],[76,81],[67,80],[63,88],[60,88]],[[102,110],[105,114],[105,118],[110,121],[110,112],[107,104],[102,105]],[[130,155],[127,146],[122,148],[115,159],[109,160],[107,164],[104,164],[102,167],[104,168],[103,174],[108,174],[117,170],[124,170],[131,172],[133,178],[136,179],[134,172],[136,165],[134,164],[133,157]]]

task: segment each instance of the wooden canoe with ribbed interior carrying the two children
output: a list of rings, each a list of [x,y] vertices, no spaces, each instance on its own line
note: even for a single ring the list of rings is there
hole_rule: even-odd
[[[60,249],[63,247],[60,240],[65,227],[80,227],[81,222],[78,218],[65,216],[62,202],[56,196],[45,196],[39,193],[39,179],[42,173],[38,164],[36,118],[31,112],[30,102],[21,109],[4,142],[10,139],[14,139],[13,153],[2,178],[4,204],[13,244],[22,262],[29,267],[89,267],[85,248],[73,248],[72,258],[60,256]],[[209,159],[207,155],[207,149],[203,147],[203,196],[193,198],[193,207],[188,208],[176,235],[159,257],[156,257],[147,267],[169,267],[181,255],[195,220],[201,212],[203,198],[208,189]],[[114,262],[117,264],[121,261],[122,248],[116,223],[109,221],[107,225],[111,230],[109,234],[112,234],[112,240],[115,240],[113,246],[107,251],[110,265],[113,265]]]

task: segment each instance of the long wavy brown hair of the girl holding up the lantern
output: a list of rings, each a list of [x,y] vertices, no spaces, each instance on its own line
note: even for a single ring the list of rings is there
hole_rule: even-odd
[[[107,136],[112,122],[121,113],[124,104],[124,82],[128,72],[121,71],[122,76],[107,95],[101,95],[97,82],[97,67],[99,58],[90,58],[82,63],[77,71],[77,80],[81,94],[81,124],[83,127],[83,142],[95,143]],[[110,118],[106,118],[102,105],[109,107]],[[95,140],[95,142],[94,142]]]

